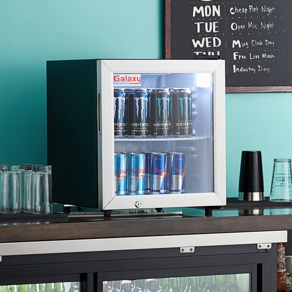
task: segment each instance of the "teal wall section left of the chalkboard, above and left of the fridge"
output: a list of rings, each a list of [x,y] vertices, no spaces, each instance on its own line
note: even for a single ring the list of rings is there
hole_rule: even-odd
[[[0,1],[0,163],[41,163],[46,60],[162,58],[162,0]]]

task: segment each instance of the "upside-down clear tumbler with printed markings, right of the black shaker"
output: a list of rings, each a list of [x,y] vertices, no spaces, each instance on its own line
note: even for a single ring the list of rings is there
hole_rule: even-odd
[[[292,201],[291,159],[274,159],[270,201]]]

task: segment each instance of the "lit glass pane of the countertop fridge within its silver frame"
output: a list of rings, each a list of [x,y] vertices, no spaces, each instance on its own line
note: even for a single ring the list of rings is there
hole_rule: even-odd
[[[138,75],[114,82],[116,195],[214,192],[213,74]]]

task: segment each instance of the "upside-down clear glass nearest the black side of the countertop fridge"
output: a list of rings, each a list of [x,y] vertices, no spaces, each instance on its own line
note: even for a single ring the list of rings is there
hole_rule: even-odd
[[[51,165],[33,165],[32,198],[33,213],[52,213]]]

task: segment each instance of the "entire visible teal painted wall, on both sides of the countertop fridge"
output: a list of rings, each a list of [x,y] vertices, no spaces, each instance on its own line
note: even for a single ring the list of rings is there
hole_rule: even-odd
[[[46,60],[162,58],[163,0],[0,1],[0,163],[46,163]],[[227,196],[242,150],[292,157],[292,93],[227,94]]]

